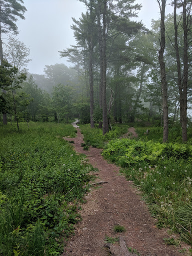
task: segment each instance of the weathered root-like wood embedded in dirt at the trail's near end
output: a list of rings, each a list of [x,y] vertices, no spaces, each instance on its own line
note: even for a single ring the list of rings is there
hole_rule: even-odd
[[[111,243],[106,243],[104,247],[108,248],[113,256],[138,256],[137,254],[128,251],[126,243],[122,237],[119,237],[119,245],[120,246],[115,246]]]

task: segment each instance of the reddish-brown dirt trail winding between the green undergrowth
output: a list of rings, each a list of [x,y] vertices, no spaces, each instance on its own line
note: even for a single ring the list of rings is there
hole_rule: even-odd
[[[92,188],[85,196],[82,204],[80,221],[65,247],[63,256],[108,256],[108,250],[103,248],[105,236],[123,237],[126,245],[136,249],[141,256],[179,256],[180,247],[165,245],[162,238],[174,237],[165,229],[155,227],[155,219],[149,214],[146,204],[132,181],[127,181],[119,173],[119,168],[107,163],[100,155],[101,149],[90,147],[89,151],[82,149],[83,142],[79,128],[77,137],[64,138],[74,140],[76,152],[87,155],[90,164],[99,172],[96,181],[107,181],[99,188]],[[125,227],[123,233],[115,233],[113,227],[120,224]]]

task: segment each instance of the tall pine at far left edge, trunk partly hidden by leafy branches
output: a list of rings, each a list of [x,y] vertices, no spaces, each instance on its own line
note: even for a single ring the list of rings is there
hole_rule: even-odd
[[[17,32],[17,17],[24,19],[26,8],[22,0],[0,0],[0,65],[3,65],[2,33]],[[5,90],[3,90],[5,93]],[[3,124],[6,124],[6,113],[3,113]]]

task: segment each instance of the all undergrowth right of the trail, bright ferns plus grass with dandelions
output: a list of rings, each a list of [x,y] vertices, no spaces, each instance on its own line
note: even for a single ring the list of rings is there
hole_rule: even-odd
[[[109,141],[102,155],[143,192],[157,226],[172,228],[192,245],[192,146],[122,138]]]

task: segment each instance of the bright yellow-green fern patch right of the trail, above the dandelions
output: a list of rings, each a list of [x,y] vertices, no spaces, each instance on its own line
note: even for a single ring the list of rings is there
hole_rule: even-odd
[[[102,155],[115,161],[121,167],[133,166],[138,163],[155,165],[161,158],[188,159],[192,147],[187,145],[152,143],[152,141],[115,139],[110,140]]]

